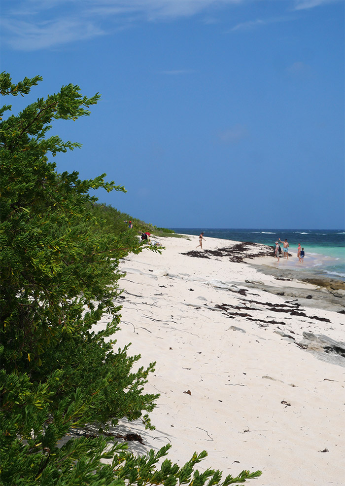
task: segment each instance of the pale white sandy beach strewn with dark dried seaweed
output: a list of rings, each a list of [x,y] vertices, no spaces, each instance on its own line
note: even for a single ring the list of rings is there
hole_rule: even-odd
[[[260,469],[248,483],[257,486],[343,486],[345,357],[303,345],[303,332],[345,340],[344,290],[242,258],[267,253],[263,245],[241,250],[206,238],[203,252],[197,237],[153,240],[166,247],[162,255],[143,251],[120,264],[117,344],[132,342],[143,366],[157,362],[146,391],[161,394],[156,430],[117,427],[141,435],[130,449],[170,443],[180,465],[206,449],[199,470]]]

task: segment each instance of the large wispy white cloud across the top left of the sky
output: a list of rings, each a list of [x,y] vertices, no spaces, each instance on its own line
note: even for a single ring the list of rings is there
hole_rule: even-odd
[[[2,8],[2,38],[13,49],[33,51],[110,35],[138,22],[160,22],[242,0],[32,0]]]

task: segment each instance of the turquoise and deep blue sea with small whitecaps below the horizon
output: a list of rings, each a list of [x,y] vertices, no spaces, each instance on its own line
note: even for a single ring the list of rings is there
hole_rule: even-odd
[[[308,271],[318,275],[337,278],[345,281],[345,231],[344,229],[226,229],[226,228],[171,228],[176,233],[224,240],[250,241],[275,245],[278,238],[287,238],[289,250],[293,256],[288,262],[280,263],[286,268]],[[297,259],[297,246],[305,251],[303,266]],[[204,243],[207,249],[207,241]],[[283,260],[283,259],[280,259]]]

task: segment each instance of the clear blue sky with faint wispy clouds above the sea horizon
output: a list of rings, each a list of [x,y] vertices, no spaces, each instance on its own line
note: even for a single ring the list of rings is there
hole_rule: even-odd
[[[18,112],[78,84],[58,171],[166,227],[344,228],[344,1],[1,0],[1,71],[41,75]],[[6,100],[8,102],[8,100]]]

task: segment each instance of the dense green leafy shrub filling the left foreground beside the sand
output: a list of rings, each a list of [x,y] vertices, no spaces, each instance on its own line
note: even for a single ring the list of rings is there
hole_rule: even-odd
[[[2,73],[0,92],[23,96],[39,81],[13,84]],[[194,471],[205,452],[182,468],[167,459],[157,469],[167,447],[138,458],[124,444],[110,447],[104,435],[123,417],[152,428],[148,413],[158,395],[143,390],[154,363],[133,371],[139,356],[116,349],[110,337],[120,323],[119,259],[142,245],[123,215],[115,219],[116,210],[96,204],[89,191],[124,188],[105,182],[105,174],[59,174],[48,159],[79,147],[47,138],[51,123],[88,115],[98,100],[69,84],[0,123],[1,484],[219,484],[219,471]],[[1,108],[1,120],[10,108]],[[111,319],[96,332],[104,314]],[[71,428],[95,423],[96,438],[59,443]],[[223,484],[259,474],[244,471]]]

